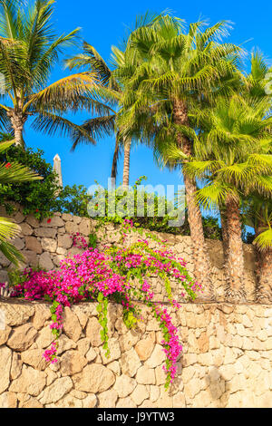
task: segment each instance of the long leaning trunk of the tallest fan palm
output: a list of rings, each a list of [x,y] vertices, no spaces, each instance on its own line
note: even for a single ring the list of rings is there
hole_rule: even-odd
[[[175,124],[189,126],[187,108],[184,102],[174,102],[173,117]],[[189,139],[178,133],[177,142],[186,155],[192,155],[192,144]],[[203,297],[213,299],[213,286],[210,278],[211,266],[204,237],[201,210],[196,199],[196,181],[184,173],[184,185],[186,189],[190,237],[193,244],[194,275],[199,284],[203,286]]]

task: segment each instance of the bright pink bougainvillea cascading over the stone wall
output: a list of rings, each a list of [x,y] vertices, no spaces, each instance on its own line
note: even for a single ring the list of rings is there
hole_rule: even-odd
[[[126,220],[124,228],[132,227]],[[87,248],[87,243],[79,234],[73,236],[77,247]],[[177,328],[172,324],[166,308],[153,302],[153,293],[147,279],[149,274],[157,274],[175,278],[183,288],[182,295],[195,296],[200,286],[189,277],[185,262],[162,247],[152,249],[148,241],[139,240],[128,248],[107,248],[104,253],[88,247],[83,253],[64,259],[58,271],[34,271],[26,269],[20,284],[14,287],[13,296],[24,297],[28,300],[50,300],[53,303],[51,329],[56,339],[63,329],[63,307],[76,304],[83,300],[96,301],[103,297],[112,297],[128,311],[137,312],[131,302],[137,292],[143,303],[151,309],[160,321],[164,340],[163,350],[167,355],[165,371],[167,381],[171,382],[176,373],[176,363],[182,346],[179,342]],[[128,276],[141,278],[141,289],[133,286]],[[2,285],[0,285],[1,287]],[[135,293],[136,292],[136,293]],[[180,305],[170,300],[171,306],[178,309]],[[44,352],[46,361],[56,362],[57,342]]]

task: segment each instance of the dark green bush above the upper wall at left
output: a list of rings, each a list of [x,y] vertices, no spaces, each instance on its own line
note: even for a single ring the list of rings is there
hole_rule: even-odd
[[[8,135],[2,134],[2,137],[9,139]],[[53,211],[88,217],[87,205],[91,197],[87,189],[83,185],[60,189],[52,165],[44,160],[43,150],[23,150],[13,145],[0,153],[0,162],[14,161],[34,170],[43,179],[39,182],[1,185],[1,205],[5,206],[8,214],[14,211],[13,203],[18,203],[24,207],[24,215],[33,213],[38,219],[49,217]]]

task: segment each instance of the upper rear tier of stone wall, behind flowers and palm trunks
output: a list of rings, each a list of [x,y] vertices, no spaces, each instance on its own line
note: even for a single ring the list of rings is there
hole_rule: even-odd
[[[0,207],[0,216],[5,216],[5,208]],[[73,233],[79,232],[83,237],[88,239],[90,233],[96,233],[99,238],[99,248],[103,244],[116,244],[120,239],[118,227],[108,224],[97,229],[97,221],[87,218],[78,218],[69,214],[55,213],[53,218],[48,221],[44,219],[39,222],[34,216],[24,217],[22,208],[17,206],[17,211],[11,217],[15,219],[21,229],[21,235],[15,238],[15,247],[20,249],[25,257],[26,264],[24,266],[41,266],[46,270],[59,266],[59,262],[64,257],[78,253],[76,247],[72,247]],[[153,235],[166,240],[170,248],[186,260],[189,272],[193,276],[194,266],[192,258],[192,244],[190,237],[173,236],[170,234],[162,234],[153,232]],[[139,236],[133,234],[128,238],[127,244],[137,240]],[[151,244],[155,244],[151,241]],[[224,257],[222,243],[217,240],[207,240],[209,247],[209,256],[213,266],[212,281],[214,285],[215,298],[218,301],[224,301]],[[254,302],[256,289],[255,276],[255,251],[254,247],[244,245],[245,253],[245,288],[248,302]],[[22,267],[24,267],[22,266]],[[0,282],[7,280],[7,269],[10,263],[0,253]],[[152,290],[155,294],[155,300],[164,300],[166,295],[163,294],[164,288],[161,286],[158,278],[154,276],[152,280]],[[174,293],[177,300],[180,300],[180,290]]]

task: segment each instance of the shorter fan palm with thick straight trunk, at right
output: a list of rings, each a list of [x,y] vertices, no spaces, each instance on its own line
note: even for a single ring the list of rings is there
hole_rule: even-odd
[[[233,95],[220,99],[212,110],[196,111],[199,127],[195,133],[196,159],[184,165],[186,172],[202,179],[205,185],[197,198],[205,208],[225,212],[226,271],[228,299],[244,298],[244,257],[241,237],[241,203],[254,192],[261,197],[272,194],[271,118],[269,100],[248,103]],[[268,114],[268,115],[267,115]]]

